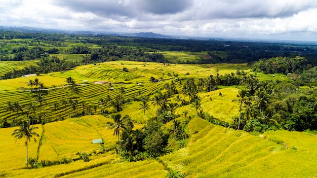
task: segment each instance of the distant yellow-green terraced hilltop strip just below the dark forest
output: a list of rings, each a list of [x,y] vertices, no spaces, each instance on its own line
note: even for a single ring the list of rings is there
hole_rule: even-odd
[[[128,73],[123,72],[122,68],[129,69]],[[16,78],[0,81],[0,90],[16,90],[20,87],[28,88],[29,80],[38,78],[46,87],[65,85],[66,78],[72,77],[76,84],[83,81],[112,81],[112,82],[148,82],[151,77],[160,78],[163,76],[168,78],[167,74],[178,74],[179,78],[183,77],[209,77],[216,74],[216,68],[219,69],[219,74],[228,74],[235,72],[237,68],[248,70],[246,64],[206,64],[206,65],[190,65],[190,64],[170,64],[163,65],[161,63],[151,62],[134,62],[134,61],[112,61],[98,63],[97,65],[88,64],[78,66],[73,70],[61,73],[49,73],[36,77]],[[190,73],[190,75],[186,75]],[[144,76],[144,77],[142,77]],[[174,78],[174,77],[173,77]]]

